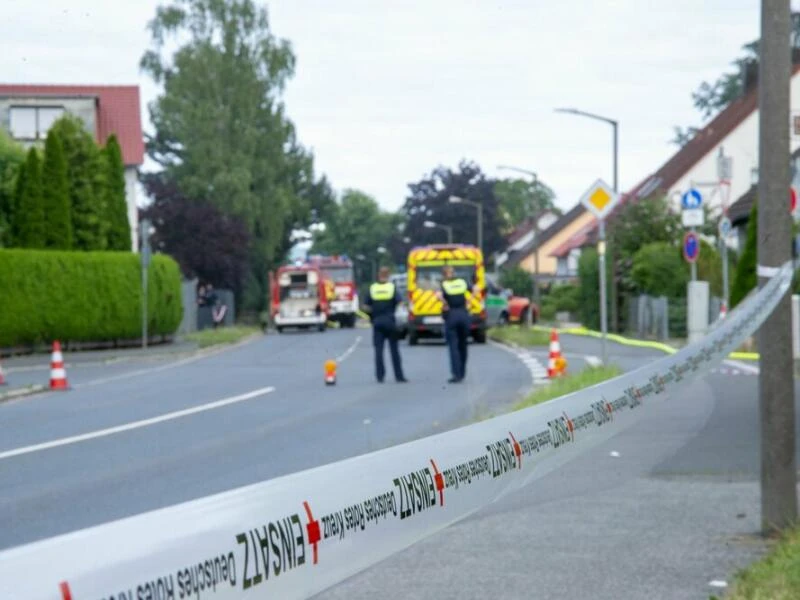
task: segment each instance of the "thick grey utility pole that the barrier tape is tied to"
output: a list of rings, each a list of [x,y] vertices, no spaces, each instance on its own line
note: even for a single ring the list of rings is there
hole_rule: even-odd
[[[790,2],[761,0],[758,178],[759,287],[791,259],[789,184]],[[791,297],[761,326],[761,527],[773,533],[797,519]]]

